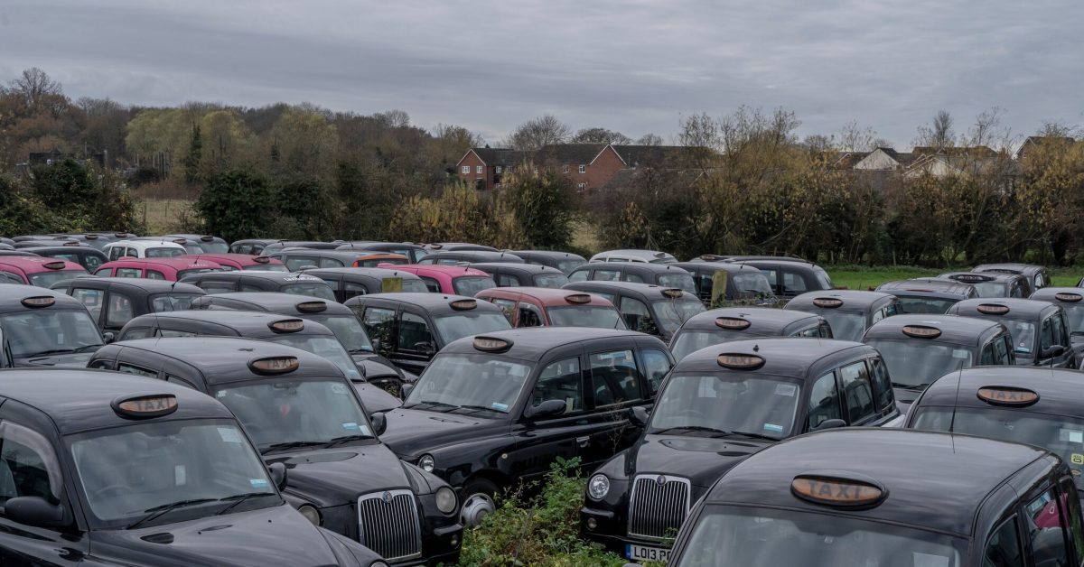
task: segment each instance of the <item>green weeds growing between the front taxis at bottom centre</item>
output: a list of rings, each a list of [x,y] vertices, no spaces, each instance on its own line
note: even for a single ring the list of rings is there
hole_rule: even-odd
[[[481,526],[465,529],[460,565],[624,565],[622,557],[579,538],[584,481],[578,467],[579,459],[557,459],[538,495],[509,495]]]

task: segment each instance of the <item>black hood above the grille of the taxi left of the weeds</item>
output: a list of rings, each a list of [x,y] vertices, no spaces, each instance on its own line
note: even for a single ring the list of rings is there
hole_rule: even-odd
[[[349,504],[376,490],[411,488],[402,462],[380,443],[270,453],[286,465],[286,490],[318,507]]]

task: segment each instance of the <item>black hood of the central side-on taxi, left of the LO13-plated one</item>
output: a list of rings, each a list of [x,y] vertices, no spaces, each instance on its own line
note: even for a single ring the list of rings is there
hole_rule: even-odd
[[[447,444],[506,435],[508,423],[473,415],[399,408],[385,414],[388,428],[380,436],[400,458],[411,459]]]

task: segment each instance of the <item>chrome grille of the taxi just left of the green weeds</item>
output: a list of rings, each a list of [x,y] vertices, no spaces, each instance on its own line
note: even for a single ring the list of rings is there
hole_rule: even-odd
[[[410,490],[388,490],[358,499],[358,537],[388,560],[422,555],[422,528]]]

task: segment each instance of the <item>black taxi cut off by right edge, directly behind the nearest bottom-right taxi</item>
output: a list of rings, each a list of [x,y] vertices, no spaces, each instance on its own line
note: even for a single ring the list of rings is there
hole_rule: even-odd
[[[930,384],[904,427],[1042,447],[1069,465],[1076,488],[1084,490],[1080,389],[1080,373],[1068,370],[967,369]]]

